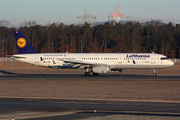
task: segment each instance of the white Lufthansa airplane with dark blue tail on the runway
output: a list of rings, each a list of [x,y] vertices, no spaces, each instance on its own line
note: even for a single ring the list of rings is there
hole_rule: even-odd
[[[39,53],[20,31],[14,31],[18,53],[11,58],[36,66],[60,69],[86,69],[85,76],[122,72],[123,69],[169,68],[174,62],[155,53]]]

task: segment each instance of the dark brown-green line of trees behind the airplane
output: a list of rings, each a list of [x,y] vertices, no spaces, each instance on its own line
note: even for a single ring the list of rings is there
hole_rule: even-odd
[[[17,54],[13,31],[8,21],[0,21],[0,56]],[[85,23],[38,25],[24,22],[18,30],[31,45],[42,53],[159,53],[170,58],[180,57],[179,24],[158,20],[146,23],[129,21],[125,24],[106,22],[91,26]]]

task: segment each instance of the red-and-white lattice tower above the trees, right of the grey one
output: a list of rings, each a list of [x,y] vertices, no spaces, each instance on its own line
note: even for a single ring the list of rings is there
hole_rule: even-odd
[[[117,11],[116,11],[116,5],[114,7],[114,12],[113,13],[109,13],[108,14],[108,18],[113,18],[113,23],[119,23],[121,21],[121,17],[128,17],[127,15],[122,15],[120,13],[120,10],[119,10],[119,4],[118,4],[118,8],[117,8]]]

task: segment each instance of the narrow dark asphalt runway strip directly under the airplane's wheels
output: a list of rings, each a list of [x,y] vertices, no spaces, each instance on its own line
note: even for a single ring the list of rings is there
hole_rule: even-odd
[[[0,75],[0,80],[180,80],[180,76],[137,74],[101,74],[99,76],[85,77],[83,74],[6,74]]]

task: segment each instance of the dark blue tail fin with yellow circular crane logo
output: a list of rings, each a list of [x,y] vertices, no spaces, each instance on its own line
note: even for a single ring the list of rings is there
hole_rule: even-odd
[[[14,37],[19,54],[38,53],[20,31],[14,31]]]

